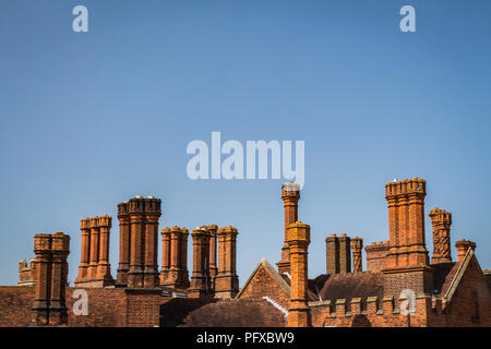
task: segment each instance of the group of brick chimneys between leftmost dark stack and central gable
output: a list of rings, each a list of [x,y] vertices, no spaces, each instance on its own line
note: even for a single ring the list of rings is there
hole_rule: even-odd
[[[197,227],[191,232],[193,272],[188,273],[185,228],[161,230],[163,258],[158,272],[158,219],[161,201],[153,196],[133,197],[118,204],[120,253],[116,280],[110,275],[109,230],[111,217],[81,220],[82,256],[75,285],[79,287],[128,287],[182,291],[191,298],[233,298],[239,291],[236,273],[233,227]],[[217,251],[218,244],[218,251]],[[217,260],[218,258],[218,260]]]

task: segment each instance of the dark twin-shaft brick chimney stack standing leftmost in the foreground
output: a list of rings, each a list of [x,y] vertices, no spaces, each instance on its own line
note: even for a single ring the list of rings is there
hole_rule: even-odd
[[[33,306],[33,324],[60,326],[68,322],[65,288],[68,284],[67,256],[70,237],[58,231],[34,237],[36,254],[36,287]]]

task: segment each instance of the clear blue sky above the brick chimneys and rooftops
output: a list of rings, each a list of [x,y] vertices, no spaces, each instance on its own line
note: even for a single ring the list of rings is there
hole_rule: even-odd
[[[77,4],[88,33],[72,31]],[[416,33],[399,29],[405,4]],[[306,142],[309,277],[333,232],[388,240],[384,184],[414,177],[427,214],[452,212],[452,245],[475,241],[491,267],[490,13],[478,0],[2,0],[0,285],[16,284],[35,233],[58,230],[73,282],[80,219],[103,214],[116,276],[117,204],[139,194],[163,200],[160,228],[237,227],[240,285],[261,257],[278,262],[282,180],[188,178],[188,143],[212,131]]]

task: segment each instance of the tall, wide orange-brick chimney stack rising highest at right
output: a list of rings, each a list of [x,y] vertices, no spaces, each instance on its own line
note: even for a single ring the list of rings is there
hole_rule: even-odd
[[[387,269],[430,264],[424,242],[426,185],[419,178],[385,184],[390,230]]]

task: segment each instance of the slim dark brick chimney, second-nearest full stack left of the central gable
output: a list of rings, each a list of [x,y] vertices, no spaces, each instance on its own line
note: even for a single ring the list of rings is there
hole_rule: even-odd
[[[191,233],[193,238],[193,274],[188,297],[202,298],[209,296],[209,233],[199,227]]]

